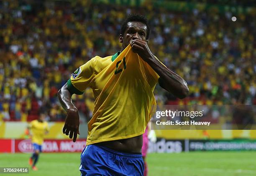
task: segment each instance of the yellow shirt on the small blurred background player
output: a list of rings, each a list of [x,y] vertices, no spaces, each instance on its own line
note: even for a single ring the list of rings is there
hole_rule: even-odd
[[[32,143],[42,145],[44,143],[44,135],[49,131],[49,126],[46,121],[39,122],[38,120],[33,120],[29,124],[29,128],[32,131]]]

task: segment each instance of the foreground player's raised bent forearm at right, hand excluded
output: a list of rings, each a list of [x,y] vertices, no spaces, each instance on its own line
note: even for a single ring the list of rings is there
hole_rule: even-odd
[[[182,77],[166,68],[159,60],[155,59],[154,55],[148,59],[148,64],[159,75],[159,84],[162,88],[179,99],[187,97],[189,89],[187,82]]]

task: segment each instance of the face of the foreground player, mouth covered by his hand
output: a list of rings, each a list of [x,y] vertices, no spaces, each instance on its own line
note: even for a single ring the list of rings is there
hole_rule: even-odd
[[[127,28],[123,35],[120,34],[119,41],[122,43],[123,49],[127,47],[133,40],[140,39],[146,41],[147,26],[142,22],[128,22]]]

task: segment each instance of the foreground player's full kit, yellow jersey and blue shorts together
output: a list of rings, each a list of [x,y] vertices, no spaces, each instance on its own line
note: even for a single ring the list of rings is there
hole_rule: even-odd
[[[141,154],[120,153],[97,143],[128,139],[145,132],[156,111],[153,92],[158,79],[159,75],[132,52],[131,45],[113,56],[96,56],[71,75],[67,82],[69,92],[83,94],[90,87],[95,97],[87,146],[81,155],[82,176],[143,175]]]

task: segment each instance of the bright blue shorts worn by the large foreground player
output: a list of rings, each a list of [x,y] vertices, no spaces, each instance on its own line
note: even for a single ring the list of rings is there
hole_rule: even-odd
[[[81,176],[143,176],[142,154],[126,154],[88,145],[81,154]]]

